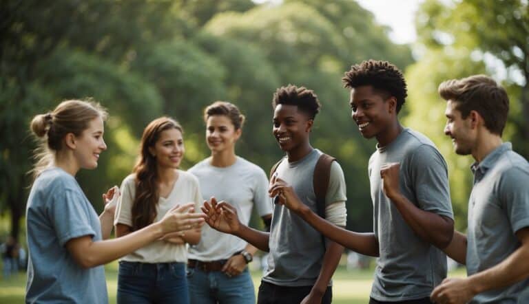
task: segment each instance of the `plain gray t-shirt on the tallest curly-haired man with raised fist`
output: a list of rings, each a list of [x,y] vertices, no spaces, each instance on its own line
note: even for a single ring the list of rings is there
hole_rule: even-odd
[[[411,129],[377,148],[369,159],[373,230],[380,247],[371,297],[377,301],[424,298],[446,277],[446,255],[421,239],[384,195],[380,167],[388,162],[400,162],[400,191],[410,202],[453,219],[448,169],[433,142]]]

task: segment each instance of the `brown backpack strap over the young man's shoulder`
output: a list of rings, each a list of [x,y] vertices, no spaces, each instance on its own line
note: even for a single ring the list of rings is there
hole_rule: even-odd
[[[316,195],[316,210],[322,218],[325,218],[325,196],[331,179],[331,164],[335,160],[331,155],[323,153],[314,167],[313,187]]]

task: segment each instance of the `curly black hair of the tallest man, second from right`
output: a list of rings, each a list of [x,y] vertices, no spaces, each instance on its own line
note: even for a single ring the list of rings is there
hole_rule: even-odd
[[[397,98],[397,113],[404,105],[406,96],[406,80],[402,72],[388,61],[362,61],[360,65],[352,65],[342,78],[344,87],[353,89],[362,85],[371,85],[376,91]]]

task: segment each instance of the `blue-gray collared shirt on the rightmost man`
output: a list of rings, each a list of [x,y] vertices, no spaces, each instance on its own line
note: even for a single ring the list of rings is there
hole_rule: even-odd
[[[466,250],[469,276],[504,261],[520,247],[515,232],[529,226],[529,163],[512,151],[509,142],[473,164],[472,171]],[[528,286],[529,278],[478,294],[471,303],[529,303],[529,298],[518,299]]]

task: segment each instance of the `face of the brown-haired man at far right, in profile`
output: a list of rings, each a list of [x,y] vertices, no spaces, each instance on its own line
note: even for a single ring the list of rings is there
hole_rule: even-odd
[[[446,125],[444,133],[452,138],[455,153],[468,155],[472,153],[475,138],[475,129],[472,128],[472,118],[461,117],[461,111],[457,109],[457,102],[448,100],[446,102]]]

